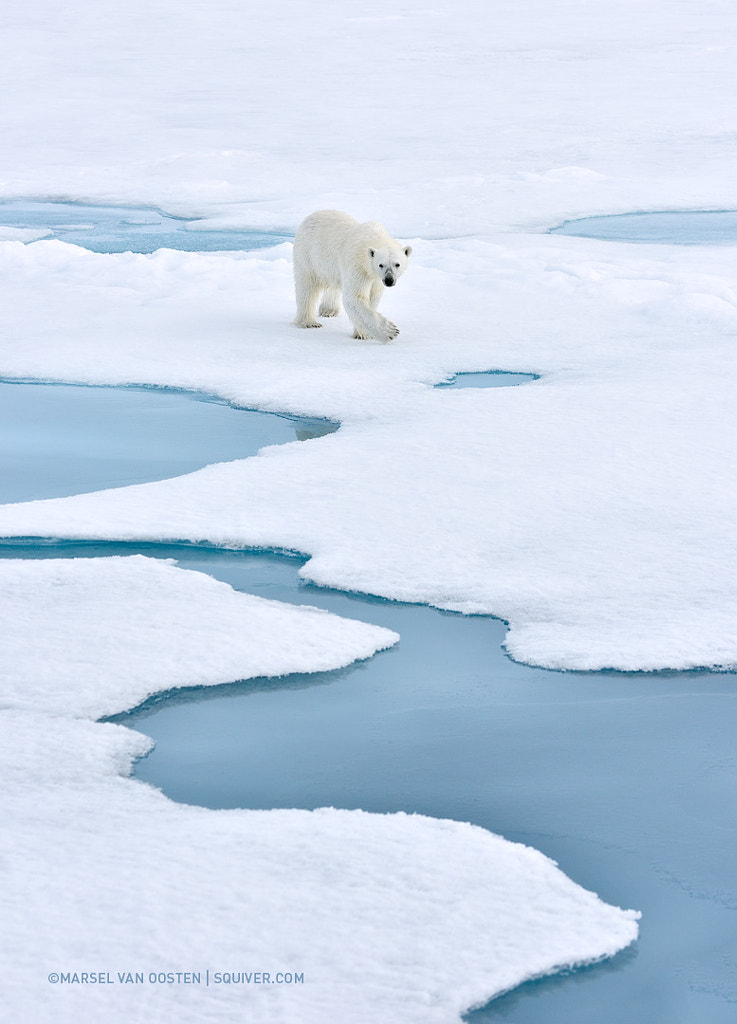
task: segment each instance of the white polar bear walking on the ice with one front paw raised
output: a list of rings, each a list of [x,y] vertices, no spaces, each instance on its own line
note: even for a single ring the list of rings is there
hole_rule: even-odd
[[[294,242],[298,327],[321,327],[318,316],[338,316],[341,297],[354,338],[392,341],[399,329],[377,312],[384,288],[393,288],[406,269],[411,246],[401,246],[370,220],[358,223],[340,210],[305,217]]]

